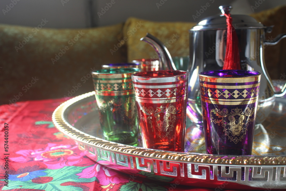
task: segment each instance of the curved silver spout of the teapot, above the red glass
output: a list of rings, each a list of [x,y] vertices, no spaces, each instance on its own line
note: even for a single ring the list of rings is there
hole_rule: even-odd
[[[156,50],[161,66],[167,70],[177,70],[169,51],[160,40],[149,33],[140,40],[147,42]]]

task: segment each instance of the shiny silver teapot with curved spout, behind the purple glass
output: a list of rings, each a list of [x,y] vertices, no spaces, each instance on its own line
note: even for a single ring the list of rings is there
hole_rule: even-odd
[[[222,13],[229,13],[231,6],[220,6]],[[261,72],[258,110],[256,124],[262,123],[271,112],[275,97],[286,93],[286,84],[280,92],[276,92],[264,64],[264,49],[267,45],[275,45],[286,34],[278,35],[274,40],[266,40],[265,33],[272,27],[258,23],[248,15],[231,15],[232,24],[239,39],[239,55],[242,70]],[[189,30],[190,40],[190,81],[188,88],[187,115],[196,125],[202,127],[200,105],[200,88],[198,73],[207,70],[222,70],[226,50],[227,24],[224,15],[207,17]],[[176,70],[174,62],[164,45],[150,34],[141,40],[148,42],[159,54],[160,62],[165,69]]]

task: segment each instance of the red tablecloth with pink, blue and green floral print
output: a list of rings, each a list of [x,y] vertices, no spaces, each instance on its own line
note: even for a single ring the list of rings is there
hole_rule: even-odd
[[[54,127],[53,111],[65,99],[0,106],[0,188],[36,190],[223,190],[191,188],[123,174],[86,157]],[[7,138],[7,139],[6,139]]]

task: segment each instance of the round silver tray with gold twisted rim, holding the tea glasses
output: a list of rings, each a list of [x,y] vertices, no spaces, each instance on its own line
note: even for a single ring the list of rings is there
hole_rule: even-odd
[[[207,188],[286,188],[286,99],[276,99],[270,116],[255,129],[253,155],[205,154],[201,129],[188,123],[185,152],[123,145],[101,139],[94,92],[61,104],[55,127],[92,160],[126,174],[170,185]]]

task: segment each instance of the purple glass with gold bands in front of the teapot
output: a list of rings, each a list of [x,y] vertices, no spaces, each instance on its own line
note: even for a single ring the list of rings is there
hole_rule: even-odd
[[[208,154],[251,155],[260,76],[249,70],[199,74]]]

